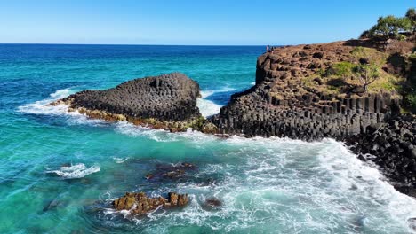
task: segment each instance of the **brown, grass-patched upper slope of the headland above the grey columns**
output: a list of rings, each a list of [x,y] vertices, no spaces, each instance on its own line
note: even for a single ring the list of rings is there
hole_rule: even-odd
[[[401,43],[393,45],[404,48]],[[272,96],[279,99],[297,99],[307,93],[399,96],[411,52],[375,48],[371,40],[286,46],[260,56],[258,68],[268,77]]]

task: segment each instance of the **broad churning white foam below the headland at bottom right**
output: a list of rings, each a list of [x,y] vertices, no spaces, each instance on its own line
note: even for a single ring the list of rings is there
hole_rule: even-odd
[[[196,140],[203,147],[209,142],[210,138]],[[208,184],[177,184],[175,191],[191,194],[188,207],[154,213],[151,219],[129,218],[152,233],[168,232],[175,223],[219,232],[411,231],[406,221],[416,216],[415,200],[394,190],[376,168],[358,160],[343,144],[238,136],[216,142],[217,147],[221,144],[228,145],[221,162],[198,171],[202,177],[221,178]],[[212,197],[223,205],[204,207],[204,200]]]

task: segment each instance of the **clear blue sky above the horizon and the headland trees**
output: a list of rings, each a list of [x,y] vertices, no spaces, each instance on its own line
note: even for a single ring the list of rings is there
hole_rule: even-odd
[[[0,43],[321,43],[410,7],[415,0],[0,0]]]

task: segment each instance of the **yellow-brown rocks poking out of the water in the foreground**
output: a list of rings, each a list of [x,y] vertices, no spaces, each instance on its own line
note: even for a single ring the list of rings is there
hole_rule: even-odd
[[[148,198],[144,192],[127,192],[113,201],[116,210],[130,210],[131,214],[147,214],[157,207],[184,207],[188,204],[188,194],[169,192],[167,198]]]

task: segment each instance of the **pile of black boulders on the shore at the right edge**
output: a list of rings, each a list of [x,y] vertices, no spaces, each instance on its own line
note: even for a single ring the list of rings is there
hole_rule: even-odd
[[[345,140],[361,160],[379,165],[398,191],[416,197],[416,121],[412,116],[397,116]]]

